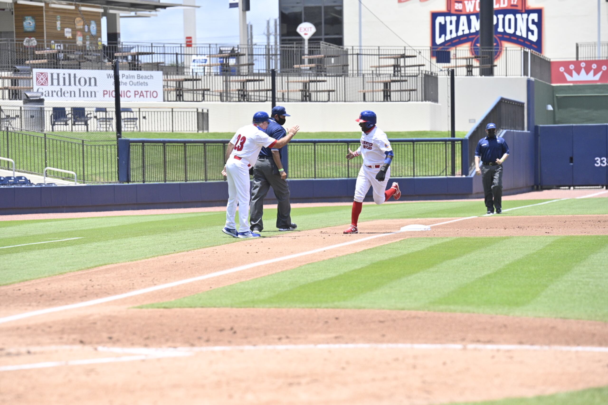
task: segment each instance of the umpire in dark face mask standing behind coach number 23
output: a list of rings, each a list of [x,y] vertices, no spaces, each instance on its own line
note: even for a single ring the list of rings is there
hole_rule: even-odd
[[[285,107],[276,106],[272,109],[270,123],[266,128],[269,137],[280,140],[286,135],[285,117],[291,117]],[[286,182],[287,172],[281,163],[282,149],[262,148],[254,165],[254,187],[251,190],[250,228],[252,232],[264,229],[262,216],[264,214],[264,198],[272,187],[277,197],[277,228],[279,231],[293,231],[297,228],[291,222],[291,204],[289,203],[289,185]]]

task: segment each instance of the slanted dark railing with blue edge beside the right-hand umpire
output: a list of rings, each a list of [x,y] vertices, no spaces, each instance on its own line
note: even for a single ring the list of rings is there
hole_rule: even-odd
[[[475,170],[475,148],[477,148],[479,140],[486,137],[486,125],[489,123],[496,124],[498,131],[503,129],[525,130],[525,103],[504,97],[497,98],[486,114],[477,122],[477,125],[466,134],[469,168],[468,172],[464,173],[465,175],[471,174]]]

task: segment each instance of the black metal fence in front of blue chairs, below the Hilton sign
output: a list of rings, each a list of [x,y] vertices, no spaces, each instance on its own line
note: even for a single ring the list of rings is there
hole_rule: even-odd
[[[206,108],[122,108],[123,132],[209,132]],[[0,106],[0,128],[36,132],[105,132],[116,137],[113,107]],[[93,135],[89,138],[95,138]]]

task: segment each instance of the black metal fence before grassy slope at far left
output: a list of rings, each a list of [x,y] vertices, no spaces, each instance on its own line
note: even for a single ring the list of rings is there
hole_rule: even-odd
[[[75,172],[83,183],[118,182],[116,140],[87,141],[10,129],[0,134],[0,156],[14,160],[19,172],[43,174],[44,168],[52,167]],[[8,169],[9,162],[0,160],[0,168]]]

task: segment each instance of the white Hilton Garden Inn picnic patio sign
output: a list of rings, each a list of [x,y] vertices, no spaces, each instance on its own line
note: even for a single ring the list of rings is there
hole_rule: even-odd
[[[33,90],[45,100],[112,101],[112,70],[32,69]],[[120,72],[120,100],[163,101],[162,72]]]

